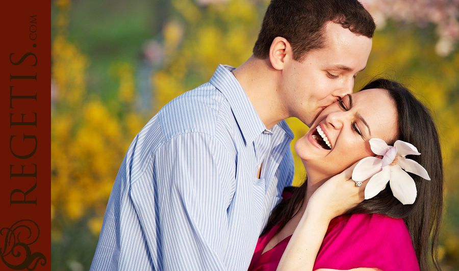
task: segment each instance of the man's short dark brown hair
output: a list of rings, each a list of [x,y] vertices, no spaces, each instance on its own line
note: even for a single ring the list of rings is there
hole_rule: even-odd
[[[283,37],[292,46],[293,59],[302,61],[307,52],[324,47],[328,21],[368,38],[376,29],[373,17],[358,0],[271,0],[253,56],[268,58],[274,38]]]

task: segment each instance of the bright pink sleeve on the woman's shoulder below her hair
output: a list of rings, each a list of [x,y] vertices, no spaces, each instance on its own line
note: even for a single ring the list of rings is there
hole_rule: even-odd
[[[402,219],[380,214],[342,215],[330,222],[314,270],[379,268],[418,271],[410,233]]]

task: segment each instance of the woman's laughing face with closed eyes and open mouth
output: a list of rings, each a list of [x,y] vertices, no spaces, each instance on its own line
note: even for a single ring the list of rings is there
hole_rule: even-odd
[[[308,176],[325,178],[364,157],[374,156],[369,140],[390,142],[397,130],[397,111],[387,90],[364,90],[326,107],[295,143],[295,151]]]

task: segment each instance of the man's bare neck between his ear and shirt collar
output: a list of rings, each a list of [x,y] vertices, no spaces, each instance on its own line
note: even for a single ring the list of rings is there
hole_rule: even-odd
[[[251,56],[235,75],[267,129],[289,117],[277,87],[280,71],[271,66],[269,59]]]

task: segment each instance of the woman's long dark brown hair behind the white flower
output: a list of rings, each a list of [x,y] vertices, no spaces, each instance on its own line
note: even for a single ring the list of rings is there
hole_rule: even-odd
[[[403,205],[392,194],[390,185],[375,197],[364,200],[347,214],[379,213],[390,218],[401,218],[408,228],[421,271],[429,269],[429,250],[433,264],[438,263],[437,245],[443,214],[443,160],[438,132],[428,109],[400,83],[388,79],[375,79],[361,89],[385,89],[394,101],[398,114],[398,135],[395,140],[413,144],[421,155],[407,155],[417,161],[429,174],[430,180],[410,174],[416,183],[417,198],[414,204]],[[394,140],[394,142],[395,142]],[[391,142],[393,145],[394,142]],[[277,205],[268,220],[265,232],[274,225],[281,227],[293,218],[301,208],[306,195],[307,182],[294,188],[293,196]],[[430,239],[431,238],[431,239]]]

